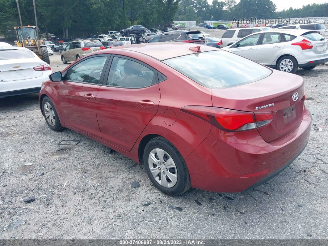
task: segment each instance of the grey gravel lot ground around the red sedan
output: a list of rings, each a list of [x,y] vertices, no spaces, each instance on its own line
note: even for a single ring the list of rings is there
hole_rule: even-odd
[[[51,56],[53,71],[65,66]],[[269,182],[229,194],[158,193],[125,156],[72,130],[52,131],[37,94],[0,99],[0,238],[328,239],[328,65],[297,75],[313,98],[306,149]]]

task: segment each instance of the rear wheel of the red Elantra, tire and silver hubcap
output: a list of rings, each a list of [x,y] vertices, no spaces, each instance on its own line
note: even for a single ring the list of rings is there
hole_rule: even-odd
[[[191,188],[187,165],[176,147],[163,137],[149,141],[144,150],[144,167],[161,192],[180,195]]]

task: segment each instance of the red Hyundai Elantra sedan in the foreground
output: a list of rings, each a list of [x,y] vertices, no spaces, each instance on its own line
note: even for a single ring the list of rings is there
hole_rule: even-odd
[[[301,77],[211,46],[122,46],[50,78],[39,102],[52,130],[72,129],[143,164],[169,195],[253,189],[309,139]]]

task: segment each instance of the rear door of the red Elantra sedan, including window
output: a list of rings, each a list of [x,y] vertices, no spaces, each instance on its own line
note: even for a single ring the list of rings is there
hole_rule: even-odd
[[[157,71],[126,56],[112,56],[96,96],[101,138],[130,151],[158,109]]]

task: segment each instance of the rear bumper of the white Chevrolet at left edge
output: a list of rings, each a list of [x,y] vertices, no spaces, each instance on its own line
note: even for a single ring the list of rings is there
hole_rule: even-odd
[[[51,71],[43,71],[42,75],[37,78],[29,78],[13,81],[0,82],[0,97],[35,93],[40,91],[41,83],[49,80]]]

